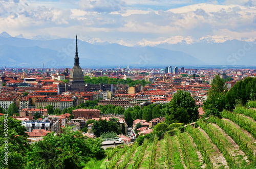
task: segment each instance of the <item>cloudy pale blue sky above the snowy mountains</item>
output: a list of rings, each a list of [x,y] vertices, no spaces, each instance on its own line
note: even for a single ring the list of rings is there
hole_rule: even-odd
[[[126,46],[213,38],[254,41],[252,0],[0,0],[0,33]]]

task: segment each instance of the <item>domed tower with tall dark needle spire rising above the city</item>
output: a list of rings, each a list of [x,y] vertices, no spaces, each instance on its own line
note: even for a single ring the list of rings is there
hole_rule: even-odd
[[[86,84],[84,82],[84,75],[79,66],[78,50],[77,50],[77,36],[76,36],[76,55],[74,67],[70,73],[69,91],[84,92],[86,91]]]

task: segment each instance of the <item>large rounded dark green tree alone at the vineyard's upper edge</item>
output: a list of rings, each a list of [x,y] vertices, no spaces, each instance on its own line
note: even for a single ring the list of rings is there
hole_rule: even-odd
[[[198,109],[195,100],[189,92],[178,90],[173,99],[166,105],[165,123],[189,123],[198,119]]]

